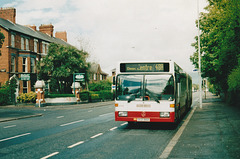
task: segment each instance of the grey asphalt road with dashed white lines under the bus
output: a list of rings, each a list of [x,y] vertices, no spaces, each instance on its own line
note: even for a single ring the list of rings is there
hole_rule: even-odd
[[[189,115],[172,129],[115,122],[113,104],[38,111],[43,116],[0,123],[0,158],[159,158]]]

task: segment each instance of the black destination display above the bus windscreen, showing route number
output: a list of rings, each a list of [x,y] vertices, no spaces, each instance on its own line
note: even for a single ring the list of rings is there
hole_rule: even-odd
[[[169,63],[121,63],[120,72],[169,72]]]

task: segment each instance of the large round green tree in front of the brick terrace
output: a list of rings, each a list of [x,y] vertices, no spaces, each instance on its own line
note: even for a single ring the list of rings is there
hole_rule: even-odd
[[[72,46],[51,43],[47,56],[38,63],[39,79],[51,80],[58,93],[70,93],[74,73],[87,73],[88,53]],[[87,80],[87,79],[85,79]],[[55,81],[55,82],[54,82]]]

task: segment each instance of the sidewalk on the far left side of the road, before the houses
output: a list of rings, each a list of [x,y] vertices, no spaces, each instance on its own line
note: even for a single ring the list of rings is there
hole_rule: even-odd
[[[55,105],[55,106],[46,106],[46,107],[35,107],[30,105],[21,105],[21,106],[0,106],[0,122],[7,122],[12,120],[38,117],[44,114],[38,113],[37,110],[42,109],[86,109],[93,107],[100,107],[108,104],[113,104],[114,101],[109,102],[98,102],[98,103],[85,103],[85,104],[75,104],[75,105]]]

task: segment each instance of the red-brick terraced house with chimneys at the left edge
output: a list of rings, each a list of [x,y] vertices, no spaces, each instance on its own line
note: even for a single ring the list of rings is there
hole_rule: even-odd
[[[0,87],[11,77],[17,77],[19,92],[34,91],[37,80],[36,64],[46,56],[48,46],[54,42],[69,46],[66,32],[56,32],[52,24],[23,26],[16,24],[15,8],[0,8],[0,32],[5,36],[0,55]]]

